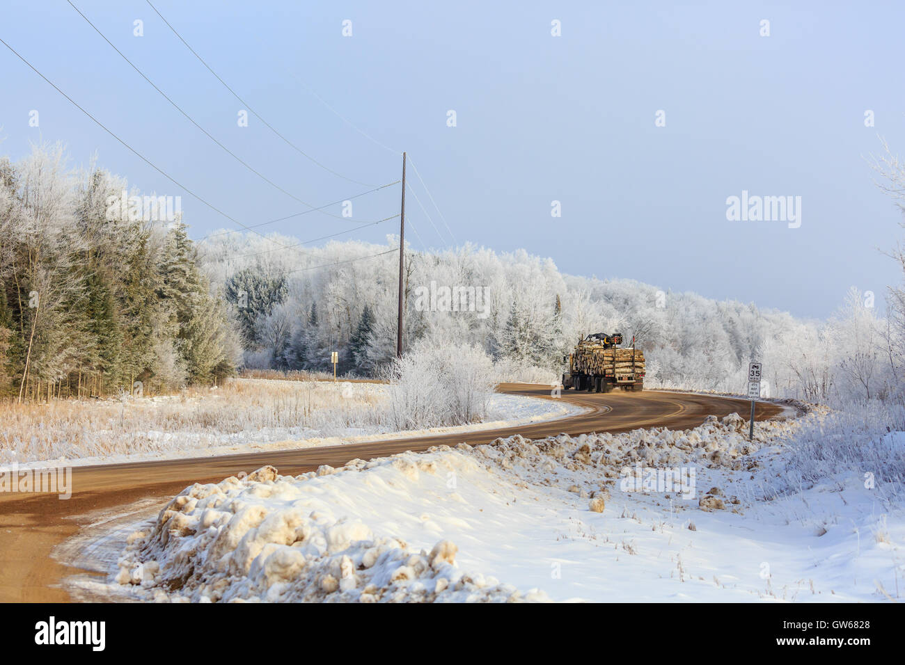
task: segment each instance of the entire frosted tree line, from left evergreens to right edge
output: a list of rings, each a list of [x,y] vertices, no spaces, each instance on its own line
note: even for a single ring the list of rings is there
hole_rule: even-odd
[[[877,167],[901,204],[902,166]],[[128,183],[69,168],[60,146],[3,160],[0,180],[4,394],[165,391],[240,366],[331,370],[334,350],[340,374],[378,375],[395,357],[395,236],[311,248],[221,230],[195,243],[181,219],[111,215],[108,197]],[[891,260],[905,268],[899,252]],[[567,275],[526,252],[406,246],[404,347],[472,347],[498,380],[548,382],[580,335],[621,332],[643,348],[651,387],[738,393],[756,358],[771,395],[885,398],[902,383],[905,299],[891,289],[889,312],[873,299],[853,287],[831,318],[803,320],[668,284]]]

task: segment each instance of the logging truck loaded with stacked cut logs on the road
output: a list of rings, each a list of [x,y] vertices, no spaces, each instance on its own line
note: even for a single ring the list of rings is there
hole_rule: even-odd
[[[622,343],[619,333],[595,333],[579,339],[575,350],[563,356],[563,362],[568,363],[563,388],[588,393],[609,393],[616,387],[643,390],[644,352],[635,348],[634,338],[631,347],[619,347]]]

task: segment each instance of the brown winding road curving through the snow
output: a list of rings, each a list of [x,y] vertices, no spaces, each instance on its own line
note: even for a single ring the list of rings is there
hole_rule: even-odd
[[[550,399],[549,388],[544,386],[504,384],[499,386],[499,390]],[[487,443],[512,434],[538,439],[562,432],[571,435],[626,432],[653,426],[688,429],[702,423],[711,413],[723,416],[737,412],[747,419],[750,408],[748,401],[742,399],[657,391],[615,391],[609,394],[563,391],[562,398],[589,411],[548,423],[529,423],[479,432],[262,451],[216,458],[75,467],[69,500],[47,494],[0,493],[0,602],[70,600],[57,584],[63,576],[76,571],[54,560],[51,553],[55,546],[90,522],[86,514],[127,506],[139,499],[160,497],[165,500],[193,482],[219,482],[240,471],[249,472],[265,464],[272,464],[283,474],[294,475],[315,470],[321,464],[339,467],[355,458],[424,451],[443,443]],[[756,418],[765,420],[780,411],[776,404],[758,403]]]

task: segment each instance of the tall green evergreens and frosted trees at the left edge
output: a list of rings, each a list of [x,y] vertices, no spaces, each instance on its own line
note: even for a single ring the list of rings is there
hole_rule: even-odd
[[[60,145],[0,159],[0,394],[151,394],[241,360],[186,226],[111,214],[124,190]]]

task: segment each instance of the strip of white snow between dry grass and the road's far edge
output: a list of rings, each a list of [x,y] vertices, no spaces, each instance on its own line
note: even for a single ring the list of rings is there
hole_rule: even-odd
[[[264,380],[255,381],[262,383]],[[287,382],[276,383],[285,385]],[[332,388],[332,385],[326,383],[324,387],[325,389]],[[359,394],[363,394],[367,398],[379,398],[382,391],[386,390],[386,386],[340,382],[336,390],[338,394],[343,394],[346,399],[354,401],[357,396],[361,396]],[[173,398],[156,397],[151,399],[164,403]],[[216,457],[243,452],[313,448],[317,446],[338,446],[383,439],[414,438],[426,434],[475,432],[498,427],[518,426],[568,418],[584,411],[585,409],[561,399],[548,400],[522,395],[494,393],[491,395],[490,403],[488,404],[488,413],[491,416],[491,420],[484,423],[406,430],[405,432],[392,432],[386,426],[376,423],[366,426],[329,424],[319,429],[304,425],[250,427],[240,432],[193,432],[185,428],[173,431],[149,430],[142,432],[141,436],[148,441],[156,442],[153,450],[126,454],[109,453],[77,458],[60,457],[38,461],[19,461],[17,463],[20,469],[43,468],[49,465],[75,467],[130,461]],[[338,420],[341,419],[341,417],[338,418]]]

